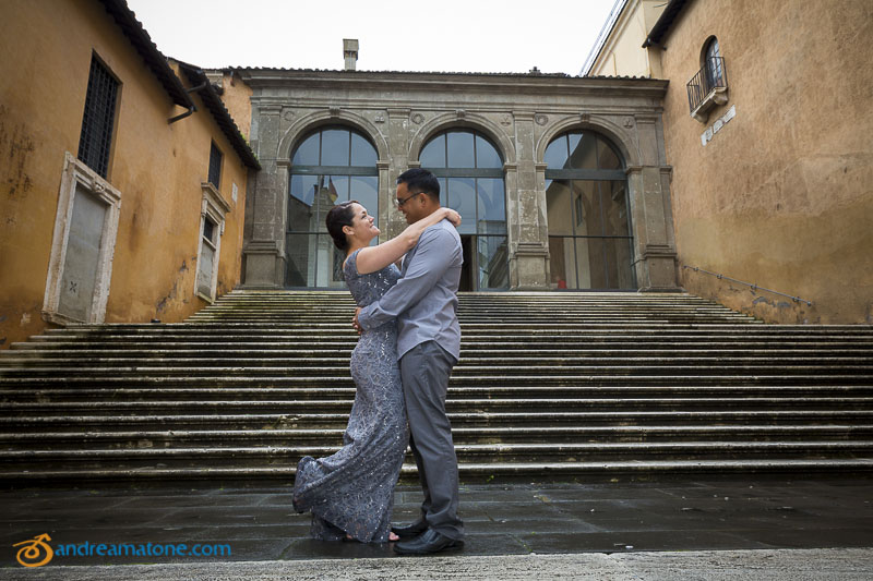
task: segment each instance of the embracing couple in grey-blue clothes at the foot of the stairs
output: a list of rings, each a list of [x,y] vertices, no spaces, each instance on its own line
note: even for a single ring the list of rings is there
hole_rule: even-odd
[[[464,546],[457,458],[445,415],[449,376],[461,351],[461,216],[440,207],[440,182],[424,169],[402,173],[396,195],[409,227],[379,245],[370,245],[380,231],[357,202],[327,214],[358,304],[352,326],[360,339],[351,353],[357,391],[343,448],[300,460],[294,506],[312,511],[316,538],[397,541],[395,553],[423,555]],[[392,526],[407,444],[424,500],[418,520]]]

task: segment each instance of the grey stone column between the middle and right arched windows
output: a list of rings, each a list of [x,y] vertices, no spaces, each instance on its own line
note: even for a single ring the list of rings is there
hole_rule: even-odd
[[[513,111],[517,164],[504,166],[509,220],[510,288],[548,289],[549,252],[546,189],[534,150],[533,111]]]

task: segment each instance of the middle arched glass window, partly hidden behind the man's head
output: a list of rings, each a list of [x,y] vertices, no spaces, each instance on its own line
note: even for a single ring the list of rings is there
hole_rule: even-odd
[[[461,290],[507,288],[506,193],[498,148],[478,131],[453,129],[431,138],[419,159],[440,180],[442,205],[461,214]]]

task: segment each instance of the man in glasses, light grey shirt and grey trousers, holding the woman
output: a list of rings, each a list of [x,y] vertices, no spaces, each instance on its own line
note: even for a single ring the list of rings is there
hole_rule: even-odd
[[[440,209],[440,182],[415,168],[397,178],[397,208],[408,223]],[[457,288],[464,263],[461,237],[447,220],[431,226],[406,254],[402,278],[379,302],[358,308],[352,325],[371,329],[396,317],[409,445],[418,465],[424,501],[421,516],[392,528],[400,537],[394,550],[423,555],[464,546],[457,517],[457,458],[445,415],[449,376],[461,353]]]

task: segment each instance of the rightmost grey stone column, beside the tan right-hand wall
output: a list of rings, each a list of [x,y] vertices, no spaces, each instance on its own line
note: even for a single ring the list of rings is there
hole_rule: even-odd
[[[641,291],[678,291],[671,168],[661,165],[657,117],[637,116],[642,166],[626,168],[636,242],[636,280]]]

